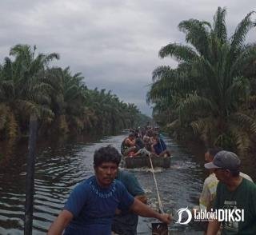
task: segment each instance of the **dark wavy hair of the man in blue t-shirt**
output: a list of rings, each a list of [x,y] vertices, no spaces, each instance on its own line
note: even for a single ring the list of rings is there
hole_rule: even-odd
[[[118,149],[115,149],[111,145],[101,147],[94,152],[94,166],[101,165],[102,162],[114,162],[119,165],[121,161],[121,155],[118,153]]]

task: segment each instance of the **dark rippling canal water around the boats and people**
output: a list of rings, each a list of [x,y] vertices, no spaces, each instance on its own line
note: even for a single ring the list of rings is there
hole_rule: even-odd
[[[120,145],[127,133],[110,137],[86,139],[38,141],[35,165],[35,194],[33,234],[46,234],[54,218],[62,209],[70,191],[78,182],[93,174],[93,154],[101,146]],[[191,153],[176,144],[170,137],[164,138],[172,152],[170,169],[154,169],[163,208],[175,213],[181,208],[198,205],[202,183],[206,177],[203,168],[202,149]],[[23,234],[27,142],[0,148],[0,234]],[[246,158],[247,159],[247,158]],[[244,173],[255,181],[255,162],[245,160]],[[245,170],[248,169],[248,170]],[[150,206],[157,209],[158,200],[154,178],[150,169],[131,170],[140,181]],[[138,234],[151,234],[154,220],[140,218]],[[170,225],[170,234],[202,234],[196,224]]]

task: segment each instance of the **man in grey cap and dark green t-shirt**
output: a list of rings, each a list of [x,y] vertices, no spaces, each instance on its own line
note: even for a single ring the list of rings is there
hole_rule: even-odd
[[[214,209],[241,209],[244,220],[226,217],[222,221],[222,234],[256,234],[256,185],[239,175],[241,161],[235,153],[220,151],[206,169],[214,169],[218,178]],[[236,214],[233,214],[236,216]],[[216,234],[220,221],[210,221],[207,234]]]

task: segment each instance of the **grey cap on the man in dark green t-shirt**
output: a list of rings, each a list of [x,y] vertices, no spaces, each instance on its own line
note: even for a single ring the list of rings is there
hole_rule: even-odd
[[[205,164],[205,168],[224,168],[230,170],[238,170],[240,165],[241,161],[237,154],[222,150],[215,155],[214,161]]]

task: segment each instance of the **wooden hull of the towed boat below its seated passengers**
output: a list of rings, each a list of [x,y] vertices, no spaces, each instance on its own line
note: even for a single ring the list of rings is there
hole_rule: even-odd
[[[170,168],[170,157],[158,157],[151,154],[151,161],[153,167]],[[142,154],[141,156],[136,157],[123,157],[123,166],[127,169],[141,168],[145,166],[151,168],[150,156]]]

